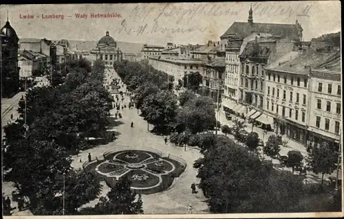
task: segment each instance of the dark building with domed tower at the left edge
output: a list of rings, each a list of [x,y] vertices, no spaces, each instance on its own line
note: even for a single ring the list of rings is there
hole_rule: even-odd
[[[16,31],[6,21],[1,28],[2,97],[10,97],[19,91],[18,42]]]

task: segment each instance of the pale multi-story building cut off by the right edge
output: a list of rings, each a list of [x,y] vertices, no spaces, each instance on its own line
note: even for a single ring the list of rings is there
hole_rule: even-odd
[[[341,52],[324,54],[328,60],[310,71],[308,143],[339,143],[341,127]],[[309,145],[309,144],[308,144]]]

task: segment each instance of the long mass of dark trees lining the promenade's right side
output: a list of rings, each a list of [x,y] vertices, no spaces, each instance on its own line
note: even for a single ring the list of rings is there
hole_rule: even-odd
[[[171,143],[176,146],[200,148],[204,157],[195,161],[194,168],[198,169],[199,186],[208,197],[211,212],[341,210],[341,191],[329,192],[322,185],[305,185],[303,178],[294,174],[294,170],[302,167],[303,156],[299,152],[291,151],[281,158],[281,164],[293,172],[279,172],[270,160],[259,157],[259,137],[255,132],[243,133],[243,123],[236,121],[234,127],[222,126],[222,132],[233,135],[244,147],[227,136],[214,135],[211,130],[216,124],[215,106],[208,97],[197,96],[190,90],[178,97],[171,87],[163,86],[171,81],[167,80],[169,76],[145,63],[124,61],[115,63],[114,68],[134,93],[140,115],[153,124],[154,132],[170,135]],[[263,152],[268,157],[279,157],[281,145],[281,137],[271,136]],[[336,150],[328,148],[321,146],[310,152],[307,158],[310,170],[324,174],[334,171]]]

